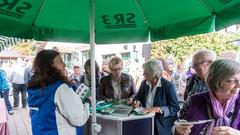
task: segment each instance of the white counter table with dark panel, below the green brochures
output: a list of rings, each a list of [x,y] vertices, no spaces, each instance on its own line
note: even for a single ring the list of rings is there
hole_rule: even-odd
[[[98,135],[154,135],[154,115],[131,114],[128,117],[119,117],[97,114],[97,123],[102,126]],[[91,129],[90,122],[91,119],[86,126],[88,130]],[[89,131],[85,132],[85,135],[89,135]]]

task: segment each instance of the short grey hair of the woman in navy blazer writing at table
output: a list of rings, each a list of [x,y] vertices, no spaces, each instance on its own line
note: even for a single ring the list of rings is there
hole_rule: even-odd
[[[157,59],[150,59],[143,64],[143,70],[146,70],[156,77],[161,77],[163,71],[162,62]]]

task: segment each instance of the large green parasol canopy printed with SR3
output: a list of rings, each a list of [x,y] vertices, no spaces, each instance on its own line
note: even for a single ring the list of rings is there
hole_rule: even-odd
[[[142,42],[240,23],[240,0],[95,0],[96,43]],[[89,43],[88,0],[0,0],[0,34]]]

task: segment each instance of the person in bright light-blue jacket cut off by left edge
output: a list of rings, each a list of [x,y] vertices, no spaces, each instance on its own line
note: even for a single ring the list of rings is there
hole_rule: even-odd
[[[7,80],[6,72],[4,70],[0,69],[0,93],[1,93],[2,97],[4,98],[8,113],[10,115],[12,115],[13,108],[9,101],[9,90],[10,90],[10,87],[9,87],[9,83]]]

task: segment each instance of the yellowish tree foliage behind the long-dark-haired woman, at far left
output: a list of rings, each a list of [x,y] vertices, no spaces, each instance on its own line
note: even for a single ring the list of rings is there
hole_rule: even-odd
[[[23,55],[32,56],[36,54],[37,46],[34,41],[28,41],[15,45],[14,49],[21,52]]]

